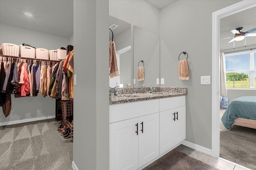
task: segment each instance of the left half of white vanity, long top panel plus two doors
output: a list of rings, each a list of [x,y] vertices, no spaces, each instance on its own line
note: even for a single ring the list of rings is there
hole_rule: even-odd
[[[135,170],[159,156],[158,102],[110,105],[111,170]]]

